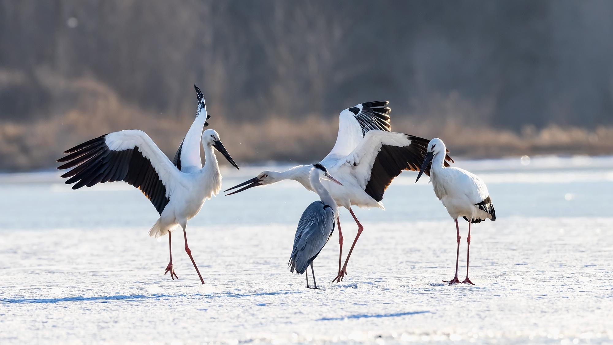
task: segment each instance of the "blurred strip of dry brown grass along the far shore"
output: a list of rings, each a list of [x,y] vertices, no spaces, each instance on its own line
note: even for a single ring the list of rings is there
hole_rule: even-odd
[[[45,71],[39,71],[45,74]],[[138,107],[121,101],[113,90],[99,82],[83,78],[61,79],[48,73],[56,96],[75,99],[68,109],[51,110],[44,120],[35,123],[14,123],[0,119],[0,169],[17,171],[44,169],[56,165],[61,152],[73,145],[104,133],[137,128],[147,132],[170,157],[183,139],[193,120],[194,109],[186,107],[181,114],[152,117]],[[461,108],[461,107],[460,107]],[[474,158],[531,155],[534,153],[613,152],[613,128],[599,127],[595,131],[583,128],[562,128],[551,125],[543,130],[526,127],[522,133],[494,130],[485,126],[465,126],[454,120],[454,109],[431,109],[449,113],[440,123],[422,122],[424,115],[392,113],[395,131],[424,138],[438,136],[455,155]],[[459,110],[463,112],[474,109]],[[224,145],[237,161],[266,160],[308,162],[321,159],[332,147],[337,133],[337,117],[326,120],[319,114],[288,120],[275,114],[259,115],[253,122],[230,123],[223,109],[211,109],[210,128],[219,132]],[[178,112],[179,113],[179,112]],[[330,117],[328,117],[330,118]]]

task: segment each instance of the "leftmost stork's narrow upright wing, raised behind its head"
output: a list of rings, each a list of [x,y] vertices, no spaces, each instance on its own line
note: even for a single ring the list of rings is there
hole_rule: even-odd
[[[177,153],[175,153],[175,158],[172,160],[172,164],[181,171],[184,171],[183,168],[202,169],[200,138],[202,130],[208,126],[207,120],[211,117],[211,115],[207,114],[207,104],[204,101],[202,91],[196,85],[194,85],[194,89],[196,89],[196,99],[198,101],[196,119],[191,127],[189,127],[188,133],[185,134],[185,138],[181,141]]]

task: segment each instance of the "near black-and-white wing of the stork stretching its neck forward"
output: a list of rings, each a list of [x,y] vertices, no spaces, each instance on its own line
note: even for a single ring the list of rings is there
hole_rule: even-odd
[[[394,177],[403,170],[419,171],[427,153],[428,140],[409,134],[369,131],[356,149],[346,158],[344,165],[376,201],[383,200],[383,193]],[[449,155],[445,158],[451,160]],[[445,166],[449,166],[445,162]],[[425,171],[430,175],[430,168]]]

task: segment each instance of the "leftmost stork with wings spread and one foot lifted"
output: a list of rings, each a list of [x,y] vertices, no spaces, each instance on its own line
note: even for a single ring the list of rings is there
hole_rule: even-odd
[[[221,189],[221,174],[213,148],[221,152],[235,168],[238,169],[238,166],[221,143],[216,131],[205,130],[200,136],[198,131],[202,131],[202,127],[207,125],[205,103],[200,95],[198,108],[196,121],[181,144],[184,149],[181,150],[180,147],[178,152],[182,166],[181,163],[178,166],[173,165],[143,131],[123,130],[104,134],[66,150],[64,153],[68,155],[59,158],[58,162],[67,163],[58,169],[72,168],[62,175],[70,177],[66,184],[74,183],[72,189],[120,180],[139,188],[160,215],[149,231],[149,236],[158,238],[168,234],[170,260],[164,274],[170,272],[172,279],[177,277],[172,265],[170,233],[181,227],[185,251],[196,268],[200,282],[204,284],[188,246],[185,231],[187,221],[198,214],[204,202],[217,195]],[[196,135],[204,147],[204,168],[200,161],[200,149],[197,151],[197,160],[192,150],[191,144]],[[190,145],[185,145],[187,143]],[[188,147],[189,154],[186,153],[188,150],[185,150]],[[189,163],[186,164],[187,162]]]

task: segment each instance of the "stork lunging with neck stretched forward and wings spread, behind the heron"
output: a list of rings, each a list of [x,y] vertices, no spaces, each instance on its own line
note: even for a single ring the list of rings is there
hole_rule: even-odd
[[[387,104],[387,101],[362,103],[343,110],[339,119],[337,141],[332,151],[319,162],[326,166],[328,171],[345,186],[341,188],[326,180],[323,182],[338,206],[348,209],[357,224],[356,238],[341,268],[343,233],[340,220],[337,218],[340,247],[338,276],[334,278],[337,282],[345,277],[349,257],[364,230],[351,206],[385,209],[381,201],[387,186],[403,170],[417,171],[427,152],[427,139],[390,132],[390,118],[387,115],[390,108],[387,107]],[[453,161],[448,156],[447,160]],[[313,165],[299,165],[281,172],[262,171],[253,179],[235,185],[225,192],[246,185],[228,194],[231,195],[251,187],[273,184],[281,180],[295,180],[307,190],[316,192],[309,179],[312,168]]]

